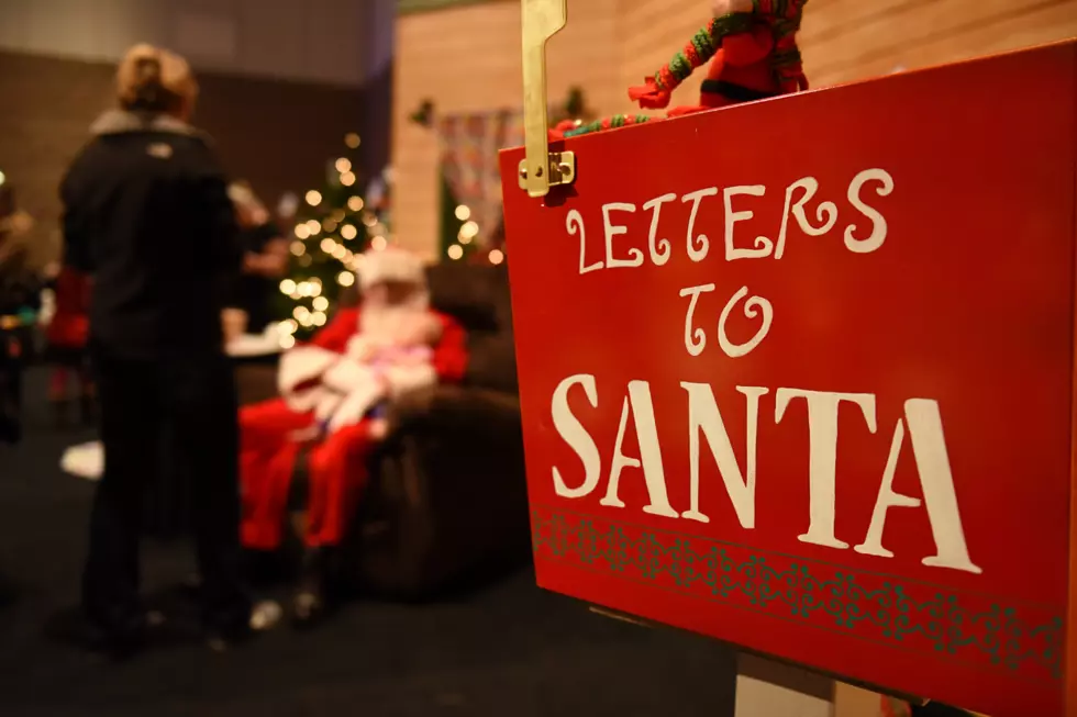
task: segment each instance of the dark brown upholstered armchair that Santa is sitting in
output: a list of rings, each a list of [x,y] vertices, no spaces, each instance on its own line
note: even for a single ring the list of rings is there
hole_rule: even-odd
[[[467,374],[392,407],[345,551],[364,587],[396,598],[428,596],[530,552],[506,269],[444,264],[428,276],[434,307],[468,332]]]

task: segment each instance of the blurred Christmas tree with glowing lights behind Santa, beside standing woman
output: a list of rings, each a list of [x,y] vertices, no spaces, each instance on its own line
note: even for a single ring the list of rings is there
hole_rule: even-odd
[[[277,301],[285,348],[325,325],[341,292],[355,283],[359,255],[389,244],[390,170],[364,191],[351,156],[358,135],[348,134],[345,145],[348,152],[327,163],[325,184],[308,191],[295,214],[288,277]]]

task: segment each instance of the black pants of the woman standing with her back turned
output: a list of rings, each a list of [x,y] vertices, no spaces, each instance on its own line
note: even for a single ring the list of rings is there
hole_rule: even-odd
[[[249,596],[241,579],[238,422],[235,380],[224,356],[126,360],[92,349],[101,401],[104,474],[90,517],[82,607],[116,637],[142,629],[138,538],[145,492],[160,469],[160,447],[190,489],[203,620],[243,630]]]

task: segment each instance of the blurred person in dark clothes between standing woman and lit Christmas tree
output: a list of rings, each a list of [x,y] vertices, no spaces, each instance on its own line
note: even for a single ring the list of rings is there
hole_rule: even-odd
[[[229,305],[244,312],[246,331],[259,334],[273,321],[270,302],[288,271],[288,242],[249,183],[232,182],[229,197],[244,248],[243,273],[232,287]]]

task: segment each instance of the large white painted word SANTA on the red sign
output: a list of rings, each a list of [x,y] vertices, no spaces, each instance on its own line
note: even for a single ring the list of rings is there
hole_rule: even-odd
[[[734,508],[742,528],[755,528],[756,515],[756,442],[760,406],[764,396],[769,400],[770,389],[765,386],[736,386],[745,399],[746,459],[742,466],[733,451],[725,418],[719,408],[713,389],[708,383],[681,382],[688,414],[689,475],[688,505],[675,507],[669,500],[658,427],[655,421],[654,401],[647,381],[631,381],[621,403],[621,417],[612,458],[603,471],[602,458],[591,430],[580,421],[569,405],[569,394],[581,392],[591,407],[599,407],[598,382],[593,374],[578,373],[558,383],[551,397],[551,418],[562,440],[576,453],[582,467],[569,471],[565,466],[551,469],[554,492],[563,498],[586,498],[596,492],[602,497],[599,505],[625,508],[620,497],[620,484],[625,468],[640,469],[646,488],[647,503],[633,506],[651,515],[666,518],[710,523],[703,512],[703,501],[721,500],[724,493]],[[608,395],[608,394],[607,394]],[[609,401],[609,397],[603,401]],[[795,405],[807,408],[809,453],[804,469],[809,484],[808,530],[798,539],[824,548],[845,550],[850,544],[836,535],[836,459],[841,446],[837,433],[839,411],[858,413],[870,433],[878,430],[876,396],[870,393],[839,393],[779,388],[774,392],[773,416],[775,423],[788,423]],[[730,411],[726,407],[726,415]],[[623,441],[631,418],[640,445],[639,458],[626,456]],[[898,493],[893,489],[898,457],[903,442],[912,444],[913,458],[920,478],[923,500]],[[704,445],[718,464],[719,480],[704,482],[700,475],[700,459]],[[571,478],[566,478],[570,474]],[[604,494],[600,490],[606,478]],[[673,480],[685,480],[680,477]],[[884,529],[891,508],[924,507],[935,542],[935,554],[921,562],[934,568],[946,568],[970,573],[982,572],[969,556],[965,530],[962,525],[957,492],[951,470],[942,414],[936,401],[910,399],[904,412],[893,427],[890,450],[886,457],[882,475],[870,524],[863,539],[853,546],[856,552],[877,558],[893,558],[882,545]]]

